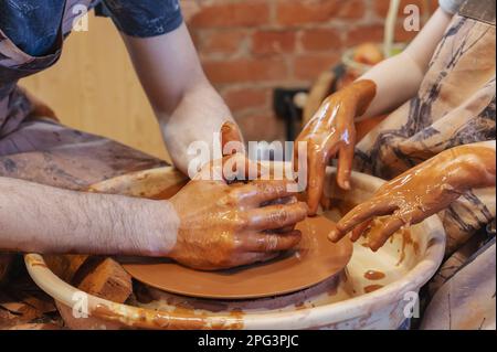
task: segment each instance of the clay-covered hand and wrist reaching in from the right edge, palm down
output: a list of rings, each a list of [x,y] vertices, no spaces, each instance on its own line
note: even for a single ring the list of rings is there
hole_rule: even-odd
[[[378,250],[398,230],[442,211],[464,192],[495,185],[495,142],[445,150],[381,186],[343,216],[329,238],[337,242],[352,231],[357,241],[367,233],[369,247]]]

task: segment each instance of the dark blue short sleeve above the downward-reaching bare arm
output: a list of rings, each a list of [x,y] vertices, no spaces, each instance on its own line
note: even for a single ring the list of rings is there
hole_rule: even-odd
[[[179,0],[104,0],[103,13],[130,36],[148,38],[172,32],[183,22]]]

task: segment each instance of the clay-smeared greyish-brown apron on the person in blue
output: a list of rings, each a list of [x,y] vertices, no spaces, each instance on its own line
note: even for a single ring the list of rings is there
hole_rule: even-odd
[[[73,8],[92,8],[96,2],[65,2],[56,45],[45,56],[22,52],[0,30],[0,177],[84,190],[108,178],[165,164],[116,141],[35,116],[33,104],[17,85],[57,62],[77,15]]]

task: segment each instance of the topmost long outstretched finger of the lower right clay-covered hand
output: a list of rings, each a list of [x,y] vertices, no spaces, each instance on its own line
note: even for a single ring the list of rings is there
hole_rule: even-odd
[[[340,241],[347,233],[356,226],[372,218],[373,216],[382,216],[392,213],[396,205],[385,196],[373,198],[364,203],[359,204],[348,212],[335,226],[328,235],[331,242]]]

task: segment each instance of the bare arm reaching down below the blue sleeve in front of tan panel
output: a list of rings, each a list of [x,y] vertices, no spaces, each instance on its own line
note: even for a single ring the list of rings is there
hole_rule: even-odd
[[[187,149],[195,141],[208,143],[213,158],[213,134],[233,119],[205,78],[187,26],[147,39],[124,35],[124,41],[175,166],[187,173],[194,158]]]

